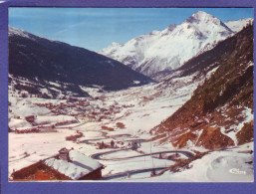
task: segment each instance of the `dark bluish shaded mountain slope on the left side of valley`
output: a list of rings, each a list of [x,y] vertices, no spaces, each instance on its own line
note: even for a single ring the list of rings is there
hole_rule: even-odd
[[[121,90],[152,82],[127,66],[86,49],[9,27],[9,74]]]

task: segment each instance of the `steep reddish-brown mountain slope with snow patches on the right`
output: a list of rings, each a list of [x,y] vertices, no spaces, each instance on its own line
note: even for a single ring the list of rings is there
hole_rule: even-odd
[[[180,70],[186,70],[185,76],[207,64],[214,64],[214,74],[152,129],[164,134],[161,142],[218,149],[253,140],[253,26],[190,60]]]

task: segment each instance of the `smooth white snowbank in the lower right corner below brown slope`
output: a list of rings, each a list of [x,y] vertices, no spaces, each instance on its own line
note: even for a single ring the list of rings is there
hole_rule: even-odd
[[[181,172],[165,172],[161,176],[136,179],[148,182],[253,182],[253,143],[227,150],[213,151],[191,162],[190,169]],[[123,180],[124,181],[124,180]],[[126,179],[132,181],[132,179]]]

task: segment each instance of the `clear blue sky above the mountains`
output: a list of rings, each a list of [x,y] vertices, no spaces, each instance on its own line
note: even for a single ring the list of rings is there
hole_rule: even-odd
[[[35,35],[97,51],[180,24],[196,11],[220,20],[253,18],[252,8],[9,8],[9,24]]]

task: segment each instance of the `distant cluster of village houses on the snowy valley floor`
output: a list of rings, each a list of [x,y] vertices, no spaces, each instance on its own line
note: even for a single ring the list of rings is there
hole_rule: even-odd
[[[102,103],[99,100],[102,100]],[[66,101],[62,101],[60,103],[36,102],[34,104],[48,108],[49,110],[51,110],[53,115],[71,115],[71,116],[75,116],[76,119],[89,121],[89,122],[102,121],[103,119],[113,120],[115,118],[115,115],[120,113],[124,108],[133,106],[133,104],[121,105],[117,101],[115,101],[114,104],[112,105],[107,105],[104,102],[104,98],[101,98],[101,97],[89,97],[89,98],[69,97],[68,99],[66,99]],[[20,116],[16,116],[16,117],[17,119],[21,119]],[[51,124],[51,123],[37,124],[35,122],[36,115],[28,115],[25,117],[25,119],[26,121],[31,123],[32,127],[19,128],[19,129],[10,128],[10,131],[15,131],[16,133],[40,132],[42,129],[53,130],[58,125],[65,125],[70,123],[70,121],[62,121],[55,124]],[[76,120],[74,122],[76,122]],[[119,123],[119,125],[117,126],[120,128],[125,127],[125,125],[123,125],[122,123]]]

